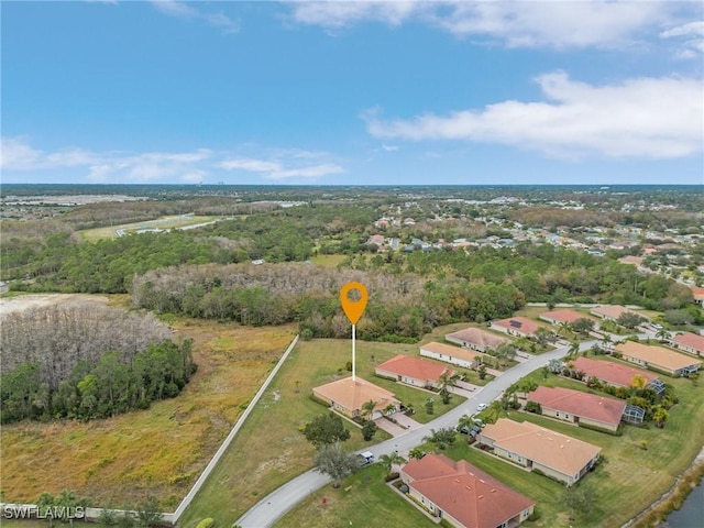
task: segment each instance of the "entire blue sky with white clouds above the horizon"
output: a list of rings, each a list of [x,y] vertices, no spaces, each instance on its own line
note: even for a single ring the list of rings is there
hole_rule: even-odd
[[[701,1],[2,1],[2,182],[704,184]]]

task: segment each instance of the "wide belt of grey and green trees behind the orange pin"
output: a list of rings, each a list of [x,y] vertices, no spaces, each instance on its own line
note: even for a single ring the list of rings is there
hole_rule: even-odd
[[[297,321],[316,337],[340,338],[351,331],[338,297],[350,280],[370,290],[366,316],[358,324],[361,339],[417,339],[438,324],[508,317],[525,305],[518,288],[505,283],[306,264],[180,266],[135,277],[131,294],[136,306],[157,312],[255,326]]]

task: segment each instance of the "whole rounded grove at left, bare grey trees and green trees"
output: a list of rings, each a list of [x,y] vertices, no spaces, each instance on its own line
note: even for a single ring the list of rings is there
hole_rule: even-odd
[[[0,421],[105,418],[176,396],[195,372],[190,341],[150,314],[51,307],[3,318]]]

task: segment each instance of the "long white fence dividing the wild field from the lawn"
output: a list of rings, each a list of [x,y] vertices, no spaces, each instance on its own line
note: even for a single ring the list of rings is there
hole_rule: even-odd
[[[166,514],[166,513],[161,514],[162,521],[168,522],[170,525],[175,525],[176,522],[178,522],[178,519],[184,514],[186,508],[190,506],[190,503],[195,498],[196,494],[200,491],[205,482],[208,480],[212,470],[216,468],[216,465],[218,465],[218,462],[220,461],[220,459],[222,458],[227,449],[230,447],[230,443],[232,443],[232,440],[234,439],[237,433],[240,431],[240,429],[244,425],[244,421],[252,414],[252,410],[254,410],[254,407],[256,406],[256,404],[258,404],[260,399],[262,399],[262,396],[266,392],[268,385],[272,383],[272,380],[274,380],[274,376],[278,373],[284,362],[288,359],[288,355],[294,350],[294,346],[296,346],[297,342],[298,342],[298,336],[296,336],[294,340],[290,342],[290,344],[288,345],[288,349],[286,349],[286,352],[284,352],[284,355],[282,355],[282,359],[278,360],[278,363],[276,363],[276,366],[268,374],[268,376],[266,377],[266,380],[264,381],[260,389],[256,392],[256,394],[250,402],[250,405],[246,406],[246,409],[244,409],[244,413],[242,413],[242,416],[240,416],[234,427],[232,427],[232,430],[230,431],[228,437],[224,439],[222,444],[220,444],[220,448],[218,448],[218,451],[216,451],[216,454],[212,457],[212,459],[210,459],[210,462],[208,462],[208,465],[206,465],[206,469],[202,471],[202,473],[200,473],[200,476],[198,477],[196,483],[193,485],[190,491],[183,498],[183,501],[176,508],[176,512],[174,512],[173,514]],[[84,512],[85,519],[87,520],[97,519],[100,516],[100,513],[103,512],[103,509],[117,515],[135,516],[138,514],[138,512],[130,510],[130,509],[85,508],[85,512]],[[34,513],[35,514],[34,517],[35,517],[36,513],[38,512],[38,507],[36,504],[0,503],[0,516],[4,518],[9,518],[9,517],[6,517],[7,515],[10,515],[10,516],[15,515],[16,518],[20,518],[19,517],[20,512],[22,510]],[[25,518],[25,517],[22,517],[22,518]]]

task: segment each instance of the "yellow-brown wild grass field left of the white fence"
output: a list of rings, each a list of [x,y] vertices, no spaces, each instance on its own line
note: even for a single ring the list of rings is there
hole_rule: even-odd
[[[153,494],[180,502],[294,336],[294,327],[207,321],[173,324],[195,340],[198,372],[176,398],[88,424],[24,421],[1,430],[2,491],[9,502],[73,490],[98,506]]]

